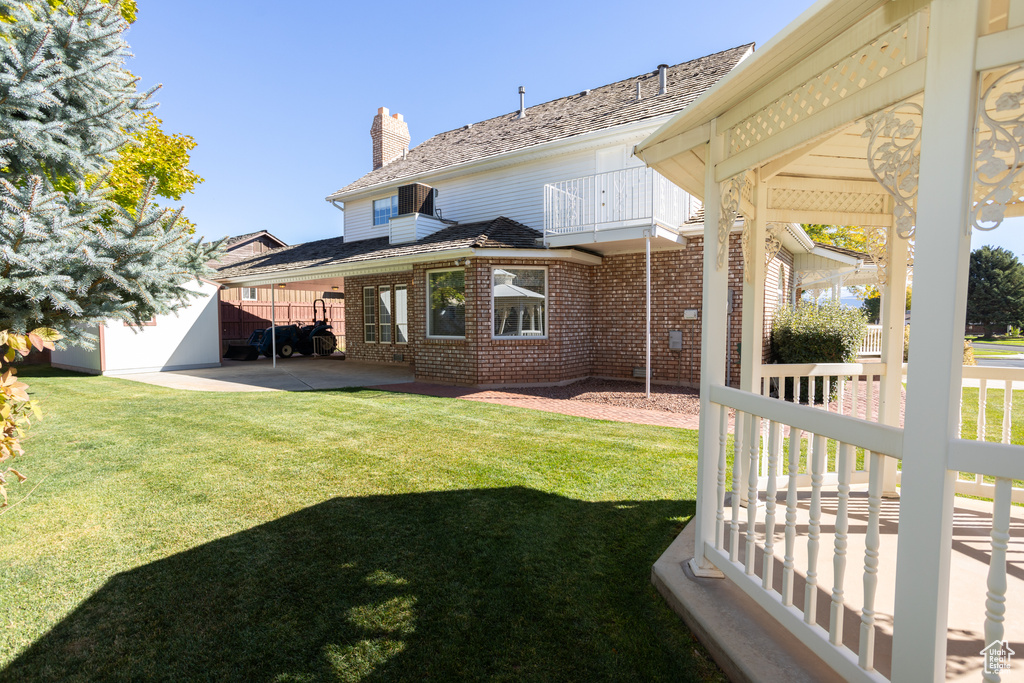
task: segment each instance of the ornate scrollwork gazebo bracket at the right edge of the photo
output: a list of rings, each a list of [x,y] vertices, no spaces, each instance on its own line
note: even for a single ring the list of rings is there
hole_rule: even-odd
[[[995,229],[1006,218],[1007,205],[1024,201],[1024,190],[1015,188],[1024,168],[1024,87],[1007,89],[1022,74],[1022,67],[1011,69],[979,97],[970,224],[979,230]]]

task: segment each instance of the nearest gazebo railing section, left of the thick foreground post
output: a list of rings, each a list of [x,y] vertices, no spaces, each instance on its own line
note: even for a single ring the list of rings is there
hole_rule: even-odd
[[[797,368],[791,367],[788,372],[795,373]],[[840,372],[847,370],[844,367]],[[821,375],[810,375],[836,376],[836,368]],[[800,382],[796,385],[799,387]],[[883,461],[886,457],[902,457],[902,430],[724,386],[711,387],[709,397],[713,410],[721,411],[721,428],[717,442],[714,543],[703,548],[705,557],[845,680],[887,680],[874,668],[878,584],[880,579],[895,580],[879,571]],[[727,458],[730,409],[734,411],[731,471]],[[763,460],[767,467],[765,475],[759,476]],[[850,488],[854,473],[862,467],[858,461],[866,465],[861,471],[868,472],[869,477],[866,500],[856,499],[860,508],[866,510],[866,518],[859,572],[863,583],[859,638],[857,651],[853,651],[848,646],[852,639],[844,638],[844,624],[852,602],[846,588],[848,574],[853,572],[848,565],[857,561],[848,557],[848,551]],[[823,488],[829,485],[827,470],[835,474],[836,493],[823,497]],[[731,499],[727,508],[726,482],[730,475]],[[809,500],[802,500],[799,492],[802,479],[809,480]],[[756,503],[762,497],[763,508]],[[780,498],[784,500],[781,518]],[[741,510],[744,505],[745,510]],[[759,521],[761,510],[763,516]],[[823,514],[827,519],[823,520]],[[806,521],[798,524],[800,515],[806,515]],[[822,539],[827,533],[822,528],[829,526],[835,529],[830,544]],[[781,549],[776,548],[779,537]],[[799,549],[798,538],[802,541]],[[819,555],[826,553],[829,545],[830,572],[819,563]],[[776,581],[778,574],[780,581]],[[829,575],[830,586],[826,583]],[[819,617],[819,597],[828,600],[828,609],[822,611],[827,613],[825,617]]]

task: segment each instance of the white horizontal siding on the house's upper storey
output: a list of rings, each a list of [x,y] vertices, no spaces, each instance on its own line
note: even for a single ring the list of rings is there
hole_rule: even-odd
[[[637,141],[643,135],[638,135]],[[603,150],[565,153],[555,157],[516,166],[467,173],[464,176],[432,181],[429,177],[419,182],[436,187],[434,206],[446,220],[468,223],[506,216],[536,230],[544,230],[544,185],[598,172],[601,165],[614,168],[642,165],[632,158],[632,144],[618,143]],[[369,199],[345,202],[345,240],[355,242],[371,238],[388,237],[387,225],[373,224],[373,201],[389,197],[382,193]]]

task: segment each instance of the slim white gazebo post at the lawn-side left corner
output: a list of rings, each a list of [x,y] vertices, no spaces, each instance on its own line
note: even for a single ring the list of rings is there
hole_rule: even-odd
[[[715,544],[715,513],[718,509],[718,449],[726,411],[712,405],[712,385],[725,384],[725,364],[729,344],[727,299],[729,296],[728,251],[724,265],[719,262],[719,234],[722,216],[722,185],[715,180],[715,166],[724,157],[725,139],[711,122],[711,139],[705,150],[705,232],[703,292],[700,312],[700,431],[697,441],[697,508],[695,543],[690,570],[698,577],[722,577],[705,558],[706,545]],[[731,226],[729,226],[731,228]],[[729,232],[725,234],[728,250]],[[721,266],[721,267],[720,267]]]

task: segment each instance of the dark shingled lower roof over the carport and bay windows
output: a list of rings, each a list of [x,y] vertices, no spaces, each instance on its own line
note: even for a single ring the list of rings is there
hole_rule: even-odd
[[[504,216],[476,223],[463,223],[445,227],[417,242],[391,245],[388,238],[345,242],[342,238],[317,240],[291,247],[281,247],[263,252],[238,263],[230,263],[217,271],[216,280],[261,275],[313,268],[326,265],[344,265],[399,256],[429,254],[453,249],[537,249],[543,237]]]

